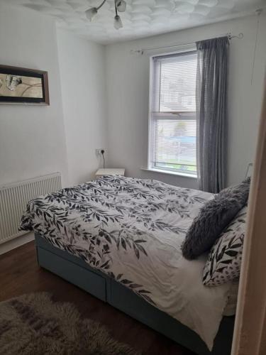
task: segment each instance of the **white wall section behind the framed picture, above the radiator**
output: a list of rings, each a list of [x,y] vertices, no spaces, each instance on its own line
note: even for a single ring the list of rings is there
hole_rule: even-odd
[[[65,129],[55,24],[35,11],[0,5],[0,63],[48,70],[50,106],[0,105],[0,185],[62,173]]]

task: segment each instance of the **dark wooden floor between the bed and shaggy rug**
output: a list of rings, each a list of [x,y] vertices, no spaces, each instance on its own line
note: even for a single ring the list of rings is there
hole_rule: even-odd
[[[143,354],[194,355],[111,305],[40,268],[33,241],[0,256],[0,301],[38,291],[49,291],[55,300],[74,303],[84,317],[105,324],[115,339]]]

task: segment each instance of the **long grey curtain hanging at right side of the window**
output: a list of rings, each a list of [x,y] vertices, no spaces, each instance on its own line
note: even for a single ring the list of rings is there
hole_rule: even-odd
[[[217,193],[226,180],[227,37],[201,40],[196,80],[199,189]]]

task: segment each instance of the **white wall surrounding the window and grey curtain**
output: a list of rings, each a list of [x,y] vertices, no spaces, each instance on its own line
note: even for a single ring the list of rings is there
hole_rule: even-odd
[[[249,16],[151,38],[108,45],[109,165],[126,168],[127,175],[155,178],[173,185],[197,187],[196,180],[140,170],[147,166],[149,55],[132,55],[131,49],[160,47],[243,32],[231,40],[228,84],[228,185],[243,179],[253,161],[262,98],[266,57],[266,21],[261,16],[253,85],[251,73],[257,18]],[[155,53],[152,53],[153,55]]]

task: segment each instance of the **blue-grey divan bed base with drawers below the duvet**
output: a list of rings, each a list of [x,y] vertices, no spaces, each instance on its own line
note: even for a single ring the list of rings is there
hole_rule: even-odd
[[[193,330],[184,326],[165,312],[143,300],[132,290],[91,268],[85,261],[67,251],[52,246],[40,234],[35,234],[39,266],[59,275],[104,302],[118,308],[178,344],[198,355],[230,355],[233,339],[234,317],[223,317],[210,352]]]

